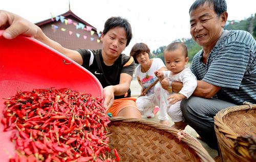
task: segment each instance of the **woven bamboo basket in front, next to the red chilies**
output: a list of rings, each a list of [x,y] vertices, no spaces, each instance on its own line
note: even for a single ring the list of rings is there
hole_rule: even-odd
[[[214,161],[194,137],[156,122],[113,117],[108,129],[120,161]]]

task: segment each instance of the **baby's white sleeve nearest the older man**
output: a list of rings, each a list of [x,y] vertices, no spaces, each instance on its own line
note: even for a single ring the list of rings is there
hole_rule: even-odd
[[[179,94],[182,94],[186,98],[189,98],[197,87],[197,78],[190,70],[186,70],[182,72],[182,74],[180,75],[180,79],[183,83],[183,86],[179,91]]]

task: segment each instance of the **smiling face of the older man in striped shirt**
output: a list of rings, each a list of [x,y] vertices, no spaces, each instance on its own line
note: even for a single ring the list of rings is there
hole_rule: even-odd
[[[225,22],[212,5],[204,4],[190,12],[190,34],[203,48],[211,49],[220,38]]]

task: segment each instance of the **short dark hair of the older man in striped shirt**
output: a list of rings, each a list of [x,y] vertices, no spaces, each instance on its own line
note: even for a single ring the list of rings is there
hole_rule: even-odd
[[[227,11],[227,3],[225,0],[197,0],[193,3],[193,5],[191,5],[189,14],[191,11],[203,6],[205,3],[207,3],[209,6],[213,5],[214,12],[217,14],[217,16],[220,16],[223,12]]]

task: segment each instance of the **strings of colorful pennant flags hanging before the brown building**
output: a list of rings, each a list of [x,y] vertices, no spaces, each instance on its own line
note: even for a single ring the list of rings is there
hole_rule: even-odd
[[[74,25],[77,30],[81,29],[81,30],[89,31],[91,33],[91,36],[93,36],[95,33],[97,33],[98,37],[99,38],[101,37],[101,32],[98,29],[96,29],[96,32],[95,32],[95,31],[92,30],[92,27],[90,27],[90,26],[84,25],[80,22],[76,22],[76,21],[74,21],[70,18],[66,18],[66,17],[61,16],[61,15],[60,16],[53,16],[53,14],[51,13],[51,20],[54,21],[54,18],[55,18],[56,21],[61,21],[62,24],[65,23],[66,25]],[[51,29],[52,29],[53,32],[56,32],[58,28],[59,27],[54,25],[54,24],[51,25]],[[60,30],[62,32],[66,32],[65,28],[60,28]],[[73,31],[69,31],[69,35],[72,35],[72,34],[73,34]],[[81,35],[79,33],[75,33],[75,35],[76,35],[77,38],[80,38],[80,37],[82,37],[83,39],[88,38],[86,35]],[[97,43],[100,42],[99,38],[96,39]],[[90,37],[90,40],[94,41],[94,37]]]

